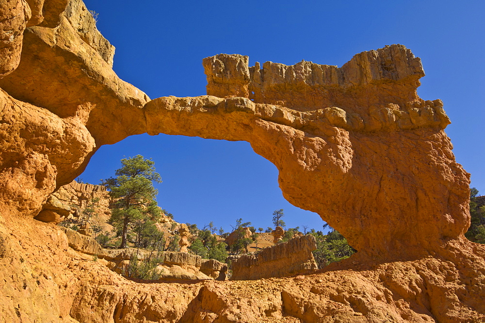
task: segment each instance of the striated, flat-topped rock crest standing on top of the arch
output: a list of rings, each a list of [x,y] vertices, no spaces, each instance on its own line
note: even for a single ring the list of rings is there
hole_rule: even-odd
[[[219,54],[203,60],[207,94],[243,97],[255,103],[282,105],[298,111],[331,106],[353,110],[382,104],[405,104],[415,97],[424,76],[421,60],[402,45],[355,55],[341,68],[301,61],[292,66],[266,62],[248,67],[248,56]],[[366,90],[365,96],[360,95]],[[357,113],[360,111],[356,111]]]

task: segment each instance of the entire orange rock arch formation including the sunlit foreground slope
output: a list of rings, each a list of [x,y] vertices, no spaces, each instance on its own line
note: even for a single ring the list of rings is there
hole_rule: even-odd
[[[0,321],[485,320],[485,248],[463,237],[469,174],[404,46],[341,68],[217,55],[204,60],[210,96],[148,102],[113,72],[81,0],[0,4]],[[358,252],[294,278],[146,284],[33,220],[99,146],[145,132],[249,141],[284,196]]]

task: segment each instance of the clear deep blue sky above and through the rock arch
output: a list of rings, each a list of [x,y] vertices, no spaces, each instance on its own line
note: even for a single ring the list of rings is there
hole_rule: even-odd
[[[206,94],[202,58],[248,55],[250,64],[302,59],[342,66],[361,51],[403,44],[422,60],[425,100],[441,99],[452,120],[457,161],[485,194],[485,1],[161,1],[85,0],[98,29],[116,47],[114,70],[150,98]],[[123,156],[155,161],[159,205],[179,222],[236,219],[272,225],[285,210],[288,227],[321,230],[320,217],[289,204],[273,164],[246,142],[184,136],[131,136],[103,146],[81,175],[97,184]],[[345,192],[342,192],[345,194]]]

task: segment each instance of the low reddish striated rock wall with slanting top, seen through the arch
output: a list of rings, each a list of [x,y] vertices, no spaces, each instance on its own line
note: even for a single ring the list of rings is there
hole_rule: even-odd
[[[232,280],[255,280],[283,277],[315,271],[311,253],[317,249],[311,235],[296,237],[256,254],[242,255],[232,261]]]

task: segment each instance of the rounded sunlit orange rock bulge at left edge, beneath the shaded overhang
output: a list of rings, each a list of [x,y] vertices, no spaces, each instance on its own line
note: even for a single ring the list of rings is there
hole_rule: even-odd
[[[80,168],[94,138],[78,119],[62,119],[2,90],[0,111],[0,204],[33,217],[56,188],[58,171]]]

